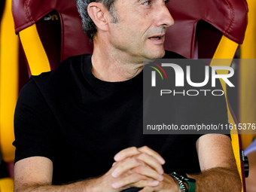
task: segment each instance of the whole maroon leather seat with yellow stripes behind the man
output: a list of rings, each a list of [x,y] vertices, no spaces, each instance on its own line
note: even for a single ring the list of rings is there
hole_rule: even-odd
[[[233,59],[247,26],[248,8],[245,0],[172,0],[168,8],[175,25],[166,32],[166,50],[187,58]],[[92,52],[92,44],[82,31],[75,1],[13,0],[13,14],[15,30],[20,35],[32,75],[55,69],[60,61],[69,56]],[[48,34],[44,25],[51,25],[53,27],[50,29],[53,29],[57,24],[49,23],[55,21],[59,23],[58,32],[56,35],[51,31]],[[47,45],[49,39],[56,40],[56,43]],[[56,47],[56,51],[51,50],[53,47]],[[51,53],[58,58],[51,59]],[[234,121],[231,112],[229,119]],[[243,178],[239,138],[237,134],[233,135],[232,139],[236,141],[233,151]]]

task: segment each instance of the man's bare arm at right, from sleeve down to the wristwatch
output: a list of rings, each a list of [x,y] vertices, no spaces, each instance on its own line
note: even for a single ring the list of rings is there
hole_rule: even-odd
[[[197,181],[197,192],[242,190],[236,160],[227,136],[217,134],[201,136],[197,141],[197,153],[202,173],[190,175]]]

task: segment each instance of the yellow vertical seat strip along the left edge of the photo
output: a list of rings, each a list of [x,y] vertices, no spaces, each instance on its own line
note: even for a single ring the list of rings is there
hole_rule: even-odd
[[[11,0],[5,2],[0,31],[0,147],[5,162],[14,161],[14,109],[18,96],[19,39],[14,32]]]

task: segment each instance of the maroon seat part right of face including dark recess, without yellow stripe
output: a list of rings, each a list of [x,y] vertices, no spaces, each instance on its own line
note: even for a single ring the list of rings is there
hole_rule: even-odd
[[[173,0],[168,8],[175,25],[167,30],[166,50],[187,58],[212,58],[222,35],[242,44],[248,12],[245,0]]]

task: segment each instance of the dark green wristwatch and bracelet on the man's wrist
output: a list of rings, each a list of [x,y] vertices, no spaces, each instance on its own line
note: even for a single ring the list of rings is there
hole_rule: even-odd
[[[180,192],[196,191],[196,180],[194,178],[187,178],[186,174],[178,175],[176,172],[172,172],[170,175],[177,182]],[[187,183],[188,187],[184,183]]]

